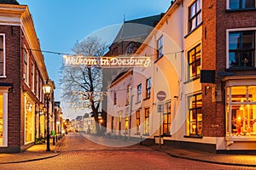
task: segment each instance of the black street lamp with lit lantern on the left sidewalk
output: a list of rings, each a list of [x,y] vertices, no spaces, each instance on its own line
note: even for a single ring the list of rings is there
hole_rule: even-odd
[[[46,136],[46,141],[47,141],[47,146],[46,146],[46,151],[49,150],[49,99],[50,99],[50,94],[51,94],[51,86],[49,85],[48,80],[46,81],[46,84],[43,87],[44,94],[46,97],[46,112],[47,112],[47,136]]]

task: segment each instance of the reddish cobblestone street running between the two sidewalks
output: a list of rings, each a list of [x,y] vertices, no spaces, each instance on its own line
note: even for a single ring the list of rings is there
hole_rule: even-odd
[[[0,169],[255,169],[175,158],[139,144],[109,147],[100,144],[100,141],[111,139],[95,138],[96,144],[91,141],[93,137],[85,137],[80,133],[68,133],[61,143],[59,156],[40,161],[2,164]],[[117,141],[113,140],[114,143]]]

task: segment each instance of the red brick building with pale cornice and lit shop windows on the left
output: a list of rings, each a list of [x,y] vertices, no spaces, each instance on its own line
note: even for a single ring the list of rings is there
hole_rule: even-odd
[[[49,76],[29,9],[0,2],[0,152],[20,152],[44,137]]]

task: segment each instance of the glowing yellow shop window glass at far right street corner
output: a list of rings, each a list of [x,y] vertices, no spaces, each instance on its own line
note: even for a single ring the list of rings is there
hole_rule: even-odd
[[[256,86],[226,88],[226,135],[256,136]]]

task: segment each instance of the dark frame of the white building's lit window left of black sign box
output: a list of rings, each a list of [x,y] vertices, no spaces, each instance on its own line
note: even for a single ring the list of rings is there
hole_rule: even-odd
[[[199,71],[199,72],[197,72],[197,67],[198,67],[198,65],[197,65],[197,62],[199,62],[200,61],[200,67],[201,67],[201,48],[200,48],[200,59],[197,59],[197,56],[196,56],[196,48],[198,48],[198,47],[201,47],[201,42],[200,43],[198,43],[197,45],[195,45],[193,48],[190,48],[189,49],[189,51],[188,51],[188,53],[187,53],[187,59],[188,59],[188,80],[195,80],[195,79],[198,79],[199,77],[200,77],[200,75],[201,75],[201,72]],[[195,54],[195,59],[194,59],[194,61],[193,62],[190,62],[190,56],[189,56],[189,54],[192,52],[192,51],[194,51],[194,54]],[[193,65],[195,65],[195,77],[193,77],[193,75],[190,75],[190,65],[193,67]],[[192,69],[193,69],[192,68]],[[200,69],[201,70],[201,69]],[[192,71],[191,71],[191,73],[192,73]]]

